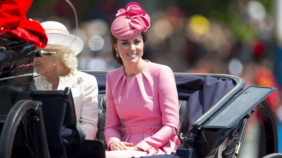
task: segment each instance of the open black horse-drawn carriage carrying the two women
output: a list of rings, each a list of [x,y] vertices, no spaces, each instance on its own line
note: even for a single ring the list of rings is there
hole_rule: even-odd
[[[76,125],[71,89],[36,90],[33,83],[36,55],[42,53],[32,44],[0,40],[0,157],[105,157],[107,72],[84,71],[96,77],[99,88],[98,140],[84,140],[84,133]],[[273,155],[278,153],[276,121],[265,100],[275,88],[243,89],[244,80],[232,75],[175,73],[175,80],[180,112],[178,137],[183,144],[176,155],[162,157],[240,156],[255,107],[265,129],[266,148],[261,150],[265,150],[266,157],[278,155]],[[190,107],[197,108],[191,111]],[[194,113],[201,117],[190,118]],[[226,139],[230,139],[226,150],[219,153],[218,147]]]

